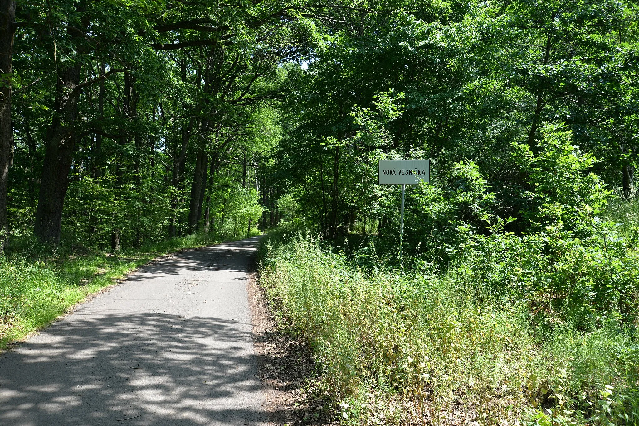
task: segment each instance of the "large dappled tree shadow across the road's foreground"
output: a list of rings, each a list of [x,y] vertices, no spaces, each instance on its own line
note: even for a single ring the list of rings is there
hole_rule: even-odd
[[[73,316],[0,354],[0,425],[261,424],[251,345],[215,317]]]

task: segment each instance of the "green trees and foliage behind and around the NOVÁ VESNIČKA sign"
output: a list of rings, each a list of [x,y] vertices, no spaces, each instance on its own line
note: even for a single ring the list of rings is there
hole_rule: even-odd
[[[632,190],[636,16],[627,2],[407,1],[333,24],[310,41],[308,69],[289,73],[280,181],[323,236],[341,238],[354,217],[362,233],[374,222],[383,253],[396,252],[399,215],[397,188],[375,185],[380,158],[429,158],[445,199],[463,191],[456,164],[475,164],[494,199],[434,200],[456,209],[455,224],[488,232],[474,210],[486,208],[515,218],[514,232],[581,235],[580,215],[604,209],[607,190]],[[430,232],[456,241],[446,218],[407,208],[408,250],[423,251]]]

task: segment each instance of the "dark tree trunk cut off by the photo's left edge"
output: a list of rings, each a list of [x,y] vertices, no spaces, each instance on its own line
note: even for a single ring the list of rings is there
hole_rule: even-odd
[[[11,124],[11,79],[13,73],[13,34],[15,33],[15,0],[0,0],[0,254],[4,251],[9,231],[6,192],[9,165],[12,160],[13,126]]]

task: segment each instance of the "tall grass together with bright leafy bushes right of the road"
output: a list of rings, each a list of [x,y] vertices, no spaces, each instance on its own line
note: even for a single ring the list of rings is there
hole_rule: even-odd
[[[472,161],[410,191],[404,268],[383,232],[348,257],[293,224],[266,241],[263,284],[343,423],[406,404],[400,418],[639,422],[636,203],[606,209],[594,157],[563,126],[541,135],[513,146],[516,217]]]

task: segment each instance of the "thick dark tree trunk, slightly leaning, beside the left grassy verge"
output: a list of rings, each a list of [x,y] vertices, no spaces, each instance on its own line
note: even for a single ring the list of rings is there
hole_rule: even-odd
[[[42,165],[34,234],[40,241],[54,245],[60,241],[62,208],[75,149],[74,125],[79,96],[73,89],[80,82],[81,68],[82,65],[70,66],[56,82],[55,114],[45,137],[47,150]]]

